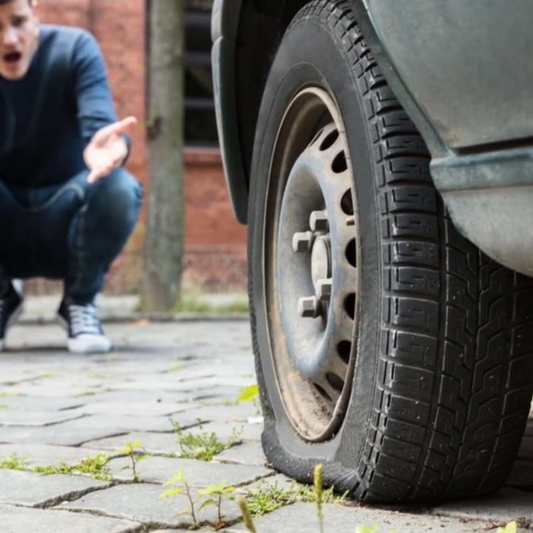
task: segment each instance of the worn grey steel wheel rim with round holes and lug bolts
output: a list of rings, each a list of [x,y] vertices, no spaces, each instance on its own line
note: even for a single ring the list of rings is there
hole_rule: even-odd
[[[276,139],[265,219],[270,344],[285,412],[310,442],[335,435],[351,393],[360,301],[357,205],[338,108],[300,91]]]

